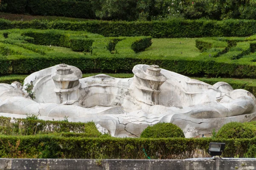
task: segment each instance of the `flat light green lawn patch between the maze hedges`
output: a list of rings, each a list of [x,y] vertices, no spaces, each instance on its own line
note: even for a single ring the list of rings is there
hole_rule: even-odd
[[[195,38],[154,38],[152,45],[138,56],[196,57],[201,53],[195,47]]]

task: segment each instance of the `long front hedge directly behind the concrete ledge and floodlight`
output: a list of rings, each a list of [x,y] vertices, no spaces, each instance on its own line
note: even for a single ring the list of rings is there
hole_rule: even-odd
[[[209,157],[210,142],[224,142],[223,157],[256,155],[253,139],[186,139],[186,138],[81,138],[54,135],[0,136],[0,157],[4,158],[61,158],[61,159],[187,159]],[[145,150],[145,153],[144,151]]]

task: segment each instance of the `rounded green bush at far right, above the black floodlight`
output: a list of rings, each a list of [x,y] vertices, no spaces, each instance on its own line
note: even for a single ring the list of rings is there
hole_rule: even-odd
[[[230,122],[221,127],[216,137],[224,139],[253,138],[253,130],[247,125],[239,122]]]

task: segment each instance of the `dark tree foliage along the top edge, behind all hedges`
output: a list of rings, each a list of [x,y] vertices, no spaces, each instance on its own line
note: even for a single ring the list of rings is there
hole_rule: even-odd
[[[253,0],[2,0],[0,10],[103,20],[255,19]]]

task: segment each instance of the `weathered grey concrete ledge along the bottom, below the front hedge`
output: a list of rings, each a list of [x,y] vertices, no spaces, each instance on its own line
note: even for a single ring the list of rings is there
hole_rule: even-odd
[[[0,170],[255,170],[256,159],[0,159]]]

